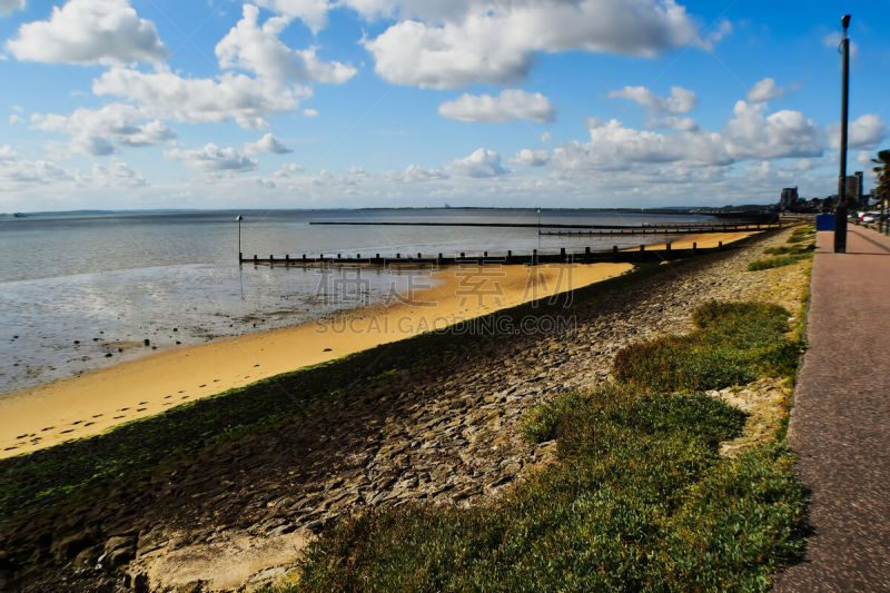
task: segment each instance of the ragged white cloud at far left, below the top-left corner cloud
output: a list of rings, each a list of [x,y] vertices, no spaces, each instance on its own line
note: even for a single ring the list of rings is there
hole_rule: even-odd
[[[125,103],[109,103],[101,109],[80,108],[70,116],[36,113],[31,127],[67,134],[75,151],[93,156],[115,152],[115,145],[142,147],[169,142],[176,132],[159,120],[149,119],[140,109]]]

